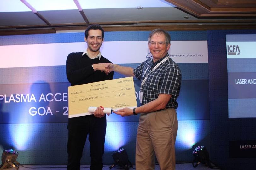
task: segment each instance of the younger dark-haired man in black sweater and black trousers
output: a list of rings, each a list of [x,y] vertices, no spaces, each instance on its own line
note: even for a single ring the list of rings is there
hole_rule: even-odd
[[[104,63],[110,62],[100,52],[104,41],[102,27],[90,25],[85,30],[84,40],[87,42],[86,51],[70,53],[67,56],[66,73],[71,86],[113,79],[113,72],[108,75],[102,72],[108,69]],[[90,170],[102,170],[106,127],[106,116],[101,108],[97,108],[94,115],[68,119],[67,170],[80,169],[87,134],[90,141]]]

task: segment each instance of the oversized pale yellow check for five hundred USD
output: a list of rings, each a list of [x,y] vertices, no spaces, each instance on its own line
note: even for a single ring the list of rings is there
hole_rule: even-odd
[[[89,107],[137,107],[132,77],[68,87],[68,117],[91,115]]]

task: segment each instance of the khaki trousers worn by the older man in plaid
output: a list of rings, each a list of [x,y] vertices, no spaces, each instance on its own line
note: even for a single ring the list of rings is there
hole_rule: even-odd
[[[178,130],[173,108],[142,113],[136,141],[136,169],[154,170],[155,156],[161,170],[175,170],[175,140]]]

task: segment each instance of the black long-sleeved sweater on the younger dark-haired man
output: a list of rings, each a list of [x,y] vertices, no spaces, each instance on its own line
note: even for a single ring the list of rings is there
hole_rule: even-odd
[[[73,52],[67,56],[66,74],[71,86],[113,79],[113,71],[107,75],[99,70],[94,71],[91,66],[98,63],[111,63],[108,59],[103,56],[100,60],[99,58],[90,59],[86,54],[83,56],[82,54],[83,52]]]

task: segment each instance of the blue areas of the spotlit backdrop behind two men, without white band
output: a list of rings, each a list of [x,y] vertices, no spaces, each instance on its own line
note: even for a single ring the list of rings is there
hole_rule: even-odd
[[[104,41],[147,41],[149,33],[105,32]],[[207,40],[206,31],[169,33],[174,41]],[[84,42],[84,33],[0,36],[2,46],[66,42]],[[182,86],[177,109],[176,160],[192,161],[191,153],[196,146],[210,148],[208,63],[178,65],[182,71]],[[114,75],[114,78],[121,77],[121,74]],[[137,79],[134,82],[138,92],[140,82]],[[15,102],[15,96],[0,96],[0,129],[4,129],[0,131],[0,153],[3,149],[15,149],[19,152],[18,161],[21,164],[66,164],[67,86],[65,66],[0,68],[0,95],[34,94],[27,98],[24,96],[26,102]],[[104,164],[113,163],[111,154],[119,148],[125,148],[130,161],[135,163],[137,125],[138,116],[120,117],[112,114],[107,117]],[[90,163],[89,148],[87,140],[82,164]],[[49,159],[49,155],[54,159]]]

